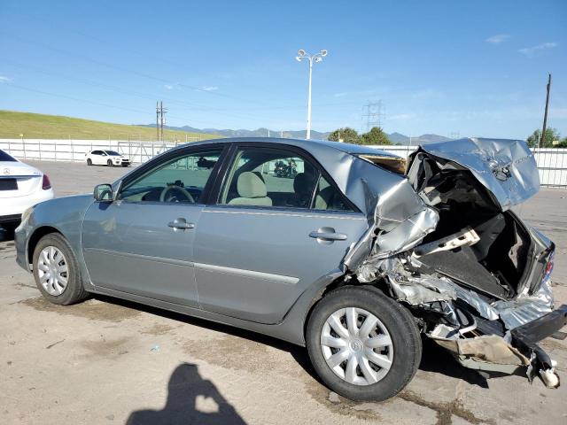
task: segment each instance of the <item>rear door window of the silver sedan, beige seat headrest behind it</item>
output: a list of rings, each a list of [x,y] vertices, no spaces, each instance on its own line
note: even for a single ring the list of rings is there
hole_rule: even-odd
[[[310,160],[294,151],[281,148],[245,147],[229,167],[229,174],[221,190],[221,205],[254,205],[289,208],[312,208],[315,194],[322,197],[319,209],[336,203],[324,203],[331,189],[321,188],[320,170]],[[324,190],[324,191],[323,191]],[[335,192],[338,192],[335,190]],[[338,193],[339,197],[342,197]],[[339,208],[345,210],[346,207]]]

